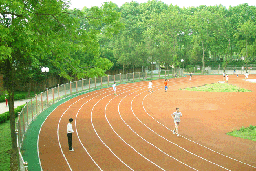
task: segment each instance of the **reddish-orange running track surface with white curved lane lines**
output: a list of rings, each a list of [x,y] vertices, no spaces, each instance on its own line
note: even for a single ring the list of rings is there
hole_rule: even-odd
[[[244,77],[243,77],[244,78]],[[256,78],[250,75],[249,78]],[[44,170],[256,170],[256,142],[225,135],[256,125],[256,83],[229,76],[253,92],[193,92],[221,75],[153,80],[93,91],[54,110],[42,125],[38,149]],[[180,137],[170,116],[180,108]],[[66,126],[73,118],[73,147]]]

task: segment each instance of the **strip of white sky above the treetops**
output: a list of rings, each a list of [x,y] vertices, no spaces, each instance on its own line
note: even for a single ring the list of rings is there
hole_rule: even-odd
[[[70,5],[70,8],[83,8],[84,6],[86,6],[87,8],[91,8],[92,6],[98,6],[100,7],[104,2],[107,2],[106,0],[71,0],[72,5]],[[109,2],[109,0],[108,0]],[[117,4],[118,7],[122,6],[125,2],[131,2],[131,0],[112,0],[113,3]],[[138,3],[145,3],[147,2],[147,0],[137,0],[136,2]],[[223,6],[225,6],[226,8],[229,8],[229,6],[231,5],[233,6],[237,6],[238,4],[243,4],[243,3],[248,3],[249,6],[256,6],[256,1],[255,0],[247,0],[247,1],[243,1],[243,0],[216,0],[216,1],[212,1],[212,0],[162,0],[162,2],[164,2],[165,4],[170,5],[171,3],[173,5],[178,5],[180,8],[187,8],[187,7],[197,7],[200,5],[206,5],[206,6],[214,6],[214,5],[219,5],[222,4]]]

